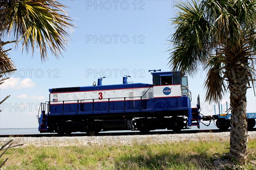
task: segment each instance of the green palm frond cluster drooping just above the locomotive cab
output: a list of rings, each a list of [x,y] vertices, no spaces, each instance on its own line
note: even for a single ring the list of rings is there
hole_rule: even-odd
[[[207,22],[203,9],[194,1],[193,5],[188,3],[178,8],[180,12],[172,21],[176,25],[171,40],[175,47],[169,50],[169,65],[175,71],[195,71],[211,51],[209,32],[212,26]]]

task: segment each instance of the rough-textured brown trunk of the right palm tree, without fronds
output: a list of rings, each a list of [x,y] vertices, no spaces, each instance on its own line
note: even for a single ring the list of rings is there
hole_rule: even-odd
[[[234,66],[235,65],[235,66]],[[246,120],[246,90],[247,70],[240,64],[230,66],[227,78],[230,90],[231,130],[230,130],[230,156],[241,164],[247,161],[247,120]]]

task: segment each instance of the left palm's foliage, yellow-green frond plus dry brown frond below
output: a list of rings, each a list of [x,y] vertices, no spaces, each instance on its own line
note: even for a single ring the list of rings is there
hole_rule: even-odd
[[[55,0],[0,1],[0,78],[16,70],[7,54],[11,49],[3,48],[6,44],[15,42],[17,47],[21,43],[22,50],[31,48],[32,54],[39,49],[42,61],[48,58],[48,51],[58,58],[66,50],[74,25],[63,8],[67,7]],[[14,40],[4,41],[3,37]],[[0,84],[6,79],[0,79]]]

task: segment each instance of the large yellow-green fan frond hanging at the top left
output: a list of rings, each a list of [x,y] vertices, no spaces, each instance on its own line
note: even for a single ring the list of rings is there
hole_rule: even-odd
[[[31,47],[33,54],[38,48],[43,61],[48,51],[58,58],[65,51],[74,27],[63,8],[67,7],[55,0],[15,0],[2,9],[7,16],[4,25],[22,43],[22,49],[28,51]]]

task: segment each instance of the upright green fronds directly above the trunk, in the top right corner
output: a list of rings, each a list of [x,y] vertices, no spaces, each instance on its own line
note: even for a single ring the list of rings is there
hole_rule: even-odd
[[[255,26],[256,1],[204,0],[201,8],[204,8],[207,20],[215,26],[214,40],[228,48],[241,44],[241,36],[246,35],[242,31],[244,28]]]

